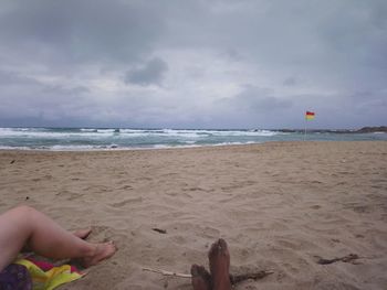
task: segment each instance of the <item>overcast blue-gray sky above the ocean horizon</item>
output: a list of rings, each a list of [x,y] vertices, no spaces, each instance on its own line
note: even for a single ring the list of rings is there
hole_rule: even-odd
[[[386,0],[0,0],[0,127],[387,125]]]

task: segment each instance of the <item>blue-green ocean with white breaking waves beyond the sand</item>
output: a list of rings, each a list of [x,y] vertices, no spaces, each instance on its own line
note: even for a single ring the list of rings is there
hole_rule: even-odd
[[[248,144],[270,141],[387,140],[385,132],[128,128],[0,128],[0,149],[123,150]]]

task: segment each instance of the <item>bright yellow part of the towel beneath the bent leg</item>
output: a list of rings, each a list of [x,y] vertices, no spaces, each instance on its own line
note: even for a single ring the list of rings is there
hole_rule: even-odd
[[[70,265],[63,265],[60,267],[53,267],[49,271],[43,271],[33,262],[19,259],[15,264],[27,267],[31,275],[33,290],[52,290],[56,287],[82,278],[82,275],[77,272],[71,272]]]

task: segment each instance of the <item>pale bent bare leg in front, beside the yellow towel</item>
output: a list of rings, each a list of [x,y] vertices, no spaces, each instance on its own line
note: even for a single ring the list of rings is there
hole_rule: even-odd
[[[87,243],[29,206],[19,206],[0,215],[0,270],[14,260],[25,244],[46,258],[81,258],[85,267],[116,251],[113,243]]]

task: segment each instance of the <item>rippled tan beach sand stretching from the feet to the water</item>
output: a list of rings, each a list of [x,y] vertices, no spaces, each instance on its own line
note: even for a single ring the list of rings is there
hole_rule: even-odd
[[[100,152],[0,151],[0,212],[28,204],[118,253],[61,289],[191,289],[224,238],[236,289],[386,289],[387,142]],[[153,228],[165,229],[160,234]],[[323,258],[356,254],[358,265]]]

